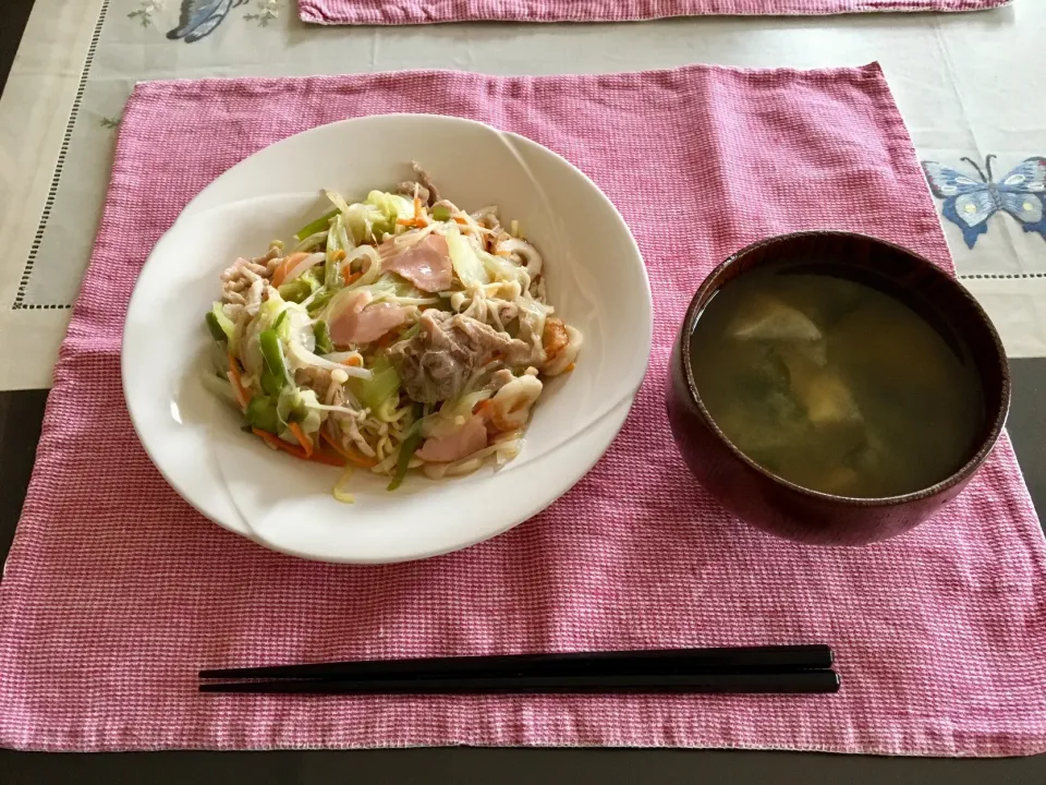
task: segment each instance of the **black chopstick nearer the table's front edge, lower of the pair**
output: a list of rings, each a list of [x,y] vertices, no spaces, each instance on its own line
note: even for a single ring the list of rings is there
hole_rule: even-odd
[[[431,679],[302,679],[207,683],[200,692],[295,695],[496,695],[496,693],[754,693],[839,691],[831,671],[794,673],[696,673],[603,676],[500,676]]]

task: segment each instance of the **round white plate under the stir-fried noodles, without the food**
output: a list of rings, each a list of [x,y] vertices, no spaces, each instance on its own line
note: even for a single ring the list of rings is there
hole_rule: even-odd
[[[542,396],[522,454],[500,471],[434,482],[413,474],[396,493],[356,472],[354,505],[333,499],[337,469],[304,463],[244,434],[240,416],[203,389],[203,314],[218,275],[326,212],[409,179],[417,159],[466,209],[498,204],[546,259],[548,297],[585,335],[576,370]],[[171,485],[220,526],[305,558],[382,563],[425,558],[489,539],[576,483],[621,428],[643,381],[653,309],[638,249],[613,205],[584,174],[514,134],[455,118],[348,120],[283,140],[208,185],[150,254],[124,327],[131,419]],[[165,351],[156,346],[162,341]]]

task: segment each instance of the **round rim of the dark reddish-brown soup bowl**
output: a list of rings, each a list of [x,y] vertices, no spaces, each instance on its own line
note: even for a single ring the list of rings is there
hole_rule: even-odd
[[[946,286],[951,287],[956,292],[966,301],[966,304],[970,305],[974,313],[981,319],[982,327],[987,329],[988,337],[992,339],[992,345],[995,349],[996,358],[999,361],[999,369],[1001,371],[1001,387],[1000,390],[1000,404],[998,411],[994,413],[992,420],[992,426],[988,430],[987,435],[981,440],[981,445],[974,455],[963,463],[959,469],[953,471],[951,474],[946,476],[942,480],[934,483],[919,491],[912,491],[907,494],[899,494],[896,496],[873,496],[873,497],[861,497],[861,496],[842,496],[839,494],[825,493],[823,491],[815,491],[813,488],[806,487],[804,485],[799,485],[789,480],[786,480],[778,474],[775,474],[762,466],[756,463],[754,460],[749,458],[741,449],[739,449],[719,428],[719,425],[713,419],[711,414],[705,408],[704,401],[701,399],[701,395],[697,392],[697,384],[694,379],[693,366],[689,362],[691,353],[691,339],[694,334],[694,327],[697,323],[697,317],[701,315],[701,311],[704,305],[707,304],[707,297],[714,291],[718,291],[722,285],[716,283],[716,281],[722,276],[722,274],[732,265],[738,264],[742,258],[749,254],[764,249],[767,245],[779,245],[799,240],[802,238],[812,238],[812,237],[832,237],[832,238],[842,238],[851,240],[860,240],[864,242],[869,242],[883,247],[887,247],[891,251],[904,254],[913,259],[915,259],[920,265],[931,270],[932,275],[936,275],[940,280],[945,281]],[[742,273],[743,275],[743,273]],[[888,276],[884,276],[888,277]],[[951,487],[957,485],[962,485],[965,483],[974,472],[980,469],[981,464],[988,457],[992,450],[995,448],[996,443],[999,439],[999,436],[1002,434],[1002,428],[1006,425],[1006,418],[1010,409],[1010,391],[1011,391],[1011,381],[1010,381],[1010,365],[1009,360],[1006,357],[1006,350],[1002,346],[1002,341],[999,338],[998,331],[995,329],[995,325],[992,324],[992,319],[988,317],[987,313],[981,307],[981,304],[970,293],[970,291],[963,287],[952,275],[949,275],[946,270],[941,269],[933,262],[927,259],[925,256],[911,251],[902,245],[897,243],[891,243],[889,241],[883,240],[880,238],[874,237],[872,234],[865,234],[862,232],[851,232],[834,229],[823,229],[823,230],[806,230],[806,231],[796,231],[788,232],[786,234],[775,234],[773,237],[764,238],[757,240],[749,245],[745,245],[739,251],[730,254],[721,264],[719,264],[711,273],[709,273],[705,279],[702,281],[701,286],[697,288],[696,293],[693,299],[690,301],[690,305],[686,307],[686,315],[683,318],[682,325],[682,335],[680,341],[680,349],[678,362],[681,365],[683,372],[683,378],[686,381],[686,392],[690,397],[690,401],[696,406],[697,411],[701,414],[702,421],[704,424],[711,431],[713,434],[722,443],[730,452],[738,459],[740,459],[744,464],[750,469],[756,471],[758,474],[763,475],[765,479],[774,482],[781,487],[784,487],[793,493],[796,493],[802,496],[806,496],[814,499],[832,502],[835,504],[844,505],[848,507],[860,507],[860,508],[881,508],[881,507],[893,507],[897,505],[910,504],[913,502],[920,502],[926,498],[932,498],[937,496]]]

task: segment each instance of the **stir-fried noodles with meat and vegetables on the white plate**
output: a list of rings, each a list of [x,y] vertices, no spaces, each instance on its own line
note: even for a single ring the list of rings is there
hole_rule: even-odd
[[[238,258],[207,314],[206,375],[273,449],[389,478],[502,464],[523,446],[543,379],[574,367],[582,336],[554,315],[544,259],[497,206],[466,213],[416,164],[297,232]]]

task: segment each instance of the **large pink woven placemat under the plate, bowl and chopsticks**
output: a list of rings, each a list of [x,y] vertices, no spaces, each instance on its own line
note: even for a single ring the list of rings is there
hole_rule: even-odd
[[[208,181],[289,134],[392,111],[485,120],[589,174],[648,265],[654,350],[621,435],[546,512],[426,561],[314,564],[219,529],[168,487],[127,419],[120,331],[143,261]],[[951,269],[877,65],[138,85],[0,582],[0,744],[1046,750],[1046,548],[1007,439],[937,519],[858,550],[739,522],[677,455],[666,363],[698,282],[757,238],[823,227]],[[817,641],[837,651],[836,696],[195,691],[196,671],[222,664]]]

